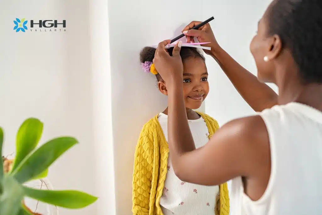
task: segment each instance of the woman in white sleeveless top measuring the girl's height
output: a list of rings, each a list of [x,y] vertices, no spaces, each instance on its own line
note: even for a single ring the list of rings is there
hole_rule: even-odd
[[[209,24],[183,31],[211,42],[207,52],[258,114],[232,120],[195,149],[184,114],[178,43],[158,45],[154,64],[167,82],[170,159],[183,181],[217,185],[232,179],[233,215],[322,214],[322,1],[274,0],[250,49],[258,78],[218,45]],[[266,84],[275,83],[279,95]]]

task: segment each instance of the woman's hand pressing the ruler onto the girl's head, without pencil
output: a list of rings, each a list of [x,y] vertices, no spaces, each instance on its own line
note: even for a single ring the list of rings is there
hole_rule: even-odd
[[[182,42],[180,41],[175,45],[172,56],[165,48],[170,42],[171,40],[165,40],[159,43],[153,59],[156,70],[167,83],[167,87],[172,83],[182,83],[183,79],[183,64],[180,56]]]

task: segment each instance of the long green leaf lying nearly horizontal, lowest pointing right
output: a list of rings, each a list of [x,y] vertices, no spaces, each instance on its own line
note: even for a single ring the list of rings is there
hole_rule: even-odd
[[[36,190],[29,187],[23,189],[25,195],[30,198],[69,209],[84,208],[97,200],[97,197],[81,191]]]

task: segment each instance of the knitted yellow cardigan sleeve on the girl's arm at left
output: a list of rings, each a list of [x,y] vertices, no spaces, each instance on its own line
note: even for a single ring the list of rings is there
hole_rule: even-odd
[[[134,215],[148,215],[152,184],[154,146],[153,134],[143,127],[135,150],[132,212]]]

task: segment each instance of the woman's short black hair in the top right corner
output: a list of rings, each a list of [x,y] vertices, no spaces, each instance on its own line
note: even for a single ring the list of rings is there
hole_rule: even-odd
[[[322,0],[275,0],[267,11],[269,35],[279,35],[302,82],[322,83]]]

